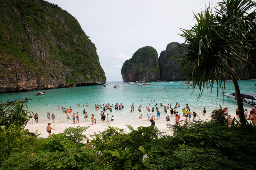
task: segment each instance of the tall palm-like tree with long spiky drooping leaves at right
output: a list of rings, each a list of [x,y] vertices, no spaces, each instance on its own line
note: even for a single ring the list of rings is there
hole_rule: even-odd
[[[250,0],[223,0],[214,11],[210,8],[194,14],[196,25],[181,29],[185,38],[185,53],[178,56],[187,82],[199,85],[199,96],[203,88],[213,89],[217,80],[219,88],[225,89],[225,80],[230,75],[236,92],[241,124],[246,124],[238,74],[252,65],[255,51],[256,5]],[[248,11],[251,11],[248,13]],[[184,76],[184,75],[183,75]],[[211,81],[210,81],[211,80]]]

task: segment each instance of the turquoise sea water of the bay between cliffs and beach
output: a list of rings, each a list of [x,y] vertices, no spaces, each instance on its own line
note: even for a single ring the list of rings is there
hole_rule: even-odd
[[[138,87],[135,84],[127,84],[120,82],[107,82],[108,87],[103,87],[102,85],[98,86],[84,86],[84,87],[75,87],[75,88],[59,88],[46,90],[46,93],[42,96],[34,96],[37,94],[37,91],[29,92],[19,92],[19,93],[9,93],[1,94],[0,99],[3,102],[10,100],[12,98],[24,96],[27,99],[40,99],[40,100],[30,100],[26,103],[29,111],[34,113],[39,113],[39,119],[46,119],[47,112],[54,113],[59,118],[66,121],[66,115],[63,114],[61,106],[63,107],[72,107],[73,112],[79,112],[80,117],[82,117],[83,104],[88,103],[89,107],[85,107],[86,111],[90,114],[93,113],[97,115],[100,111],[95,111],[95,104],[114,104],[122,103],[125,107],[122,111],[116,111],[113,108],[112,115],[115,116],[118,120],[128,120],[129,118],[138,118],[138,107],[142,104],[142,114],[146,116],[146,106],[150,108],[154,107],[158,103],[160,112],[163,112],[163,107],[160,107],[160,103],[163,104],[172,104],[172,107],[175,106],[175,103],[180,103],[180,108],[178,111],[181,112],[182,108],[185,107],[185,104],[188,103],[189,107],[195,110],[197,113],[201,113],[203,107],[206,107],[207,113],[206,116],[210,115],[210,111],[216,108],[219,108],[219,105],[222,107],[228,107],[229,112],[235,112],[237,105],[235,102],[232,102],[221,94],[222,89],[219,91],[218,100],[216,99],[217,94],[217,84],[214,84],[213,91],[210,93],[210,89],[204,89],[204,92],[201,98],[198,100],[199,90],[196,88],[191,95],[192,88],[187,86],[179,81],[170,81],[166,82],[149,82],[151,86]],[[120,88],[113,88],[114,85],[120,85]],[[250,92],[256,94],[255,80],[241,80],[239,81],[239,87],[241,92]],[[233,82],[226,82],[225,87],[226,93],[232,93],[234,91]],[[9,95],[9,96],[8,96]],[[191,95],[191,96],[190,96]],[[141,97],[140,97],[141,96]],[[151,101],[152,100],[152,101]],[[154,102],[155,100],[155,102]],[[130,114],[131,104],[135,104],[135,113]],[[46,107],[46,104],[49,106]],[[77,105],[76,105],[77,104]],[[81,106],[78,107],[78,104]],[[58,111],[58,106],[60,110]],[[250,110],[250,106],[244,105],[244,108]],[[168,109],[168,113],[170,109]],[[107,112],[108,113],[108,112]],[[111,116],[111,114],[110,114]],[[59,119],[58,118],[58,119]]]

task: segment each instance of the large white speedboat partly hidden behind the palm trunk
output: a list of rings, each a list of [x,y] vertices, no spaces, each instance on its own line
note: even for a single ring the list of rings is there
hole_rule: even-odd
[[[223,93],[230,101],[237,102],[235,93]],[[241,93],[243,104],[256,106],[256,94],[253,93]]]

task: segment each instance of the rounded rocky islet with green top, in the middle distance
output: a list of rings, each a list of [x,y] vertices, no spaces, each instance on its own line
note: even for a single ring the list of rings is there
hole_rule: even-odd
[[[138,49],[131,59],[123,63],[121,74],[124,82],[159,80],[157,50],[151,46]]]

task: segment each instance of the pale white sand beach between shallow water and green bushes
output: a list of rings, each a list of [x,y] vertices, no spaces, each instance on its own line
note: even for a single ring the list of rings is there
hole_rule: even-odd
[[[167,117],[167,115],[170,118],[170,121],[167,122],[165,120],[165,118]],[[234,116],[234,115],[232,115]],[[155,116],[156,117],[156,116]],[[207,121],[210,120],[211,117],[209,116],[202,116],[202,114],[199,114],[196,119],[199,120],[199,118],[203,121]],[[62,133],[66,128],[69,127],[74,127],[76,128],[77,126],[90,126],[85,132],[84,134],[87,135],[87,137],[89,137],[89,135],[93,135],[94,133],[99,133],[99,131],[104,131],[107,128],[107,124],[103,123],[102,121],[97,121],[96,125],[92,125],[90,118],[88,119],[89,121],[85,121],[85,119],[82,117],[80,118],[80,124],[72,124],[73,121],[57,121],[55,120],[55,123],[53,123],[53,121],[49,121],[51,123],[51,126],[56,129],[56,130],[52,130],[52,133],[54,134],[58,134],[58,133]],[[98,119],[100,120],[100,119]],[[180,120],[184,120],[185,121],[185,117],[181,116]],[[191,117],[191,121],[193,120],[193,117]],[[172,135],[172,131],[171,129],[167,128],[166,125],[167,123],[174,125],[175,121],[175,117],[170,117],[170,113],[161,113],[160,116],[160,120],[155,120],[155,124],[157,126],[157,128],[162,131],[162,132],[166,132],[167,135]],[[39,123],[36,123],[35,121],[33,121],[33,123],[28,122],[26,125],[26,129],[28,129],[30,132],[35,132],[36,130],[38,130],[38,133],[41,133],[39,135],[39,137],[43,137],[46,138],[48,137],[48,133],[46,131],[46,126],[48,125],[49,122],[41,122],[39,120]],[[129,129],[127,129],[126,125],[131,125],[133,126],[134,129],[137,129],[139,126],[150,126],[150,122],[148,121],[147,117],[144,117],[143,119],[137,119],[137,120],[129,120],[127,118],[127,121],[110,121],[110,126],[112,127],[117,127],[120,129],[126,129],[125,133],[129,133]],[[181,122],[181,125],[183,125],[183,122]]]

